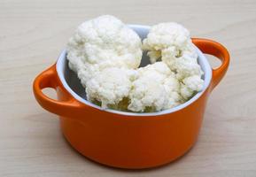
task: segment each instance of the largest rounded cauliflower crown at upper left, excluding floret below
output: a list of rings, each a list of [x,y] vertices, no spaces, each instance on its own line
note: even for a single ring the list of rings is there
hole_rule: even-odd
[[[83,22],[67,43],[69,67],[76,73],[83,65],[137,68],[142,42],[135,31],[110,15]]]

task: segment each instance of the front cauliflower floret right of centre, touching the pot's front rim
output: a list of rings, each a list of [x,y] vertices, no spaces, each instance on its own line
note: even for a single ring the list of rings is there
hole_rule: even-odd
[[[138,78],[132,83],[128,110],[159,112],[179,103],[179,82],[163,62],[138,69]]]

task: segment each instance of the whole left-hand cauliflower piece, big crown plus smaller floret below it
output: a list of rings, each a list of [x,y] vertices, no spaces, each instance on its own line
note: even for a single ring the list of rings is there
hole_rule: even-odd
[[[120,19],[100,16],[82,23],[67,43],[69,68],[77,73],[89,101],[102,107],[128,96],[132,73],[142,58],[142,42]]]

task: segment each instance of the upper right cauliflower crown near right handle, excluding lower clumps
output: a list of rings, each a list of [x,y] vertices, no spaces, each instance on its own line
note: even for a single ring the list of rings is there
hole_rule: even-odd
[[[198,65],[198,54],[191,42],[190,32],[177,23],[160,23],[151,27],[143,48],[149,50],[151,63],[161,59],[174,72],[178,72],[176,70],[182,61],[190,60],[190,63]]]

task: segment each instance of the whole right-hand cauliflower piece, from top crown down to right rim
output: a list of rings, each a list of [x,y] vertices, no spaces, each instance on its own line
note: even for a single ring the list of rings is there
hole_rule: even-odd
[[[203,71],[198,65],[198,54],[186,28],[177,23],[153,26],[144,39],[143,48],[148,50],[151,63],[161,59],[176,73],[176,78],[182,83],[183,99],[189,99],[203,88]]]

